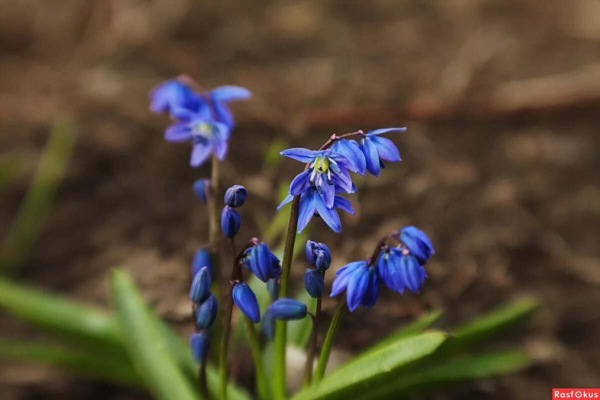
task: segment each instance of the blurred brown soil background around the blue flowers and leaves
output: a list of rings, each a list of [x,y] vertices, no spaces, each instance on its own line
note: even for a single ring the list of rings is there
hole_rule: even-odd
[[[40,160],[58,176],[64,168],[55,201],[32,200],[44,224],[25,254],[11,255],[21,281],[106,305],[107,270],[125,265],[162,317],[191,329],[188,265],[207,240],[191,184],[208,168],[190,169],[189,147],[164,142],[168,120],[148,111],[147,98],[187,73],[206,89],[254,94],[233,104],[222,168],[223,187],[250,192],[241,237],[260,234],[298,172],[274,156],[280,149],[408,127],[389,135],[403,162],[359,180],[349,196],[358,212],[343,217],[343,232],[310,225],[334,268],[407,224],[436,246],[422,293],[382,290],[376,307],[344,320],[340,354],[427,309],[445,309],[443,328],[533,294],[542,308],[499,343],[523,345],[535,365],[430,398],[545,399],[553,387],[598,386],[600,1],[3,0],[0,9],[0,237]],[[42,156],[55,125],[72,131],[58,161]],[[293,266],[298,286],[306,267]],[[334,307],[323,303],[328,316]],[[0,326],[6,336],[37,335],[5,314]],[[0,365],[2,399],[65,396],[147,398]]]

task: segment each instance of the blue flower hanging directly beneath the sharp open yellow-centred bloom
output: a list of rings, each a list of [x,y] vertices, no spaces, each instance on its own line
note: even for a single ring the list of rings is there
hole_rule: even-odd
[[[289,194],[281,201],[281,204],[279,204],[277,209],[281,209],[281,207],[292,201],[292,199],[293,196]],[[325,221],[335,233],[340,233],[341,221],[335,208],[339,208],[354,215],[354,209],[348,199],[342,196],[335,196],[334,208],[329,209],[325,206],[325,203],[323,203],[323,199],[319,196],[317,189],[314,186],[308,188],[308,190],[302,193],[302,196],[300,197],[300,206],[298,207],[298,233],[302,233],[302,230],[308,225],[310,219],[316,215],[323,218],[323,221]]]

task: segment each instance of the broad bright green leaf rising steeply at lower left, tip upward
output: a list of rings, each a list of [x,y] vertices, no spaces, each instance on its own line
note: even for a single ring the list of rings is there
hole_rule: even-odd
[[[149,309],[129,276],[113,270],[111,288],[125,350],[152,394],[163,400],[199,398],[176,367],[164,335],[149,317]]]

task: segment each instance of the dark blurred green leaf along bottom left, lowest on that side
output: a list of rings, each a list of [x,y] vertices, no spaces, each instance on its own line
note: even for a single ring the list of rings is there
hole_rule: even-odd
[[[78,375],[142,386],[142,380],[128,359],[101,351],[0,339],[0,359],[44,363]]]

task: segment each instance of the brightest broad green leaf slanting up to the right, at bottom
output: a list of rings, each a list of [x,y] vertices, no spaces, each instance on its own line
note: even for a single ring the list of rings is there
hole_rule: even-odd
[[[356,396],[371,390],[377,381],[389,378],[401,367],[433,353],[445,340],[446,334],[437,331],[400,339],[350,360],[319,383],[298,393],[293,400],[358,398]]]

